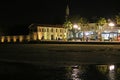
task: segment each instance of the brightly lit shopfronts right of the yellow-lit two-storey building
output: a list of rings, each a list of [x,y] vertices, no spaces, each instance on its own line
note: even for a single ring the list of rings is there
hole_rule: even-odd
[[[80,40],[86,41],[120,41],[120,25],[114,24],[110,26],[110,23],[106,23],[103,26],[99,26],[96,23],[89,23],[87,26],[79,27],[79,31],[68,31],[68,40]],[[73,29],[73,30],[77,30]]]

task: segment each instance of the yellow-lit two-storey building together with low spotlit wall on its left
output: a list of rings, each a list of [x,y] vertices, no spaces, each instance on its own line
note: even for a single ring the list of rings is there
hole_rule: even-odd
[[[28,28],[28,35],[0,36],[0,42],[65,40],[67,38],[67,30],[62,25],[31,24]]]

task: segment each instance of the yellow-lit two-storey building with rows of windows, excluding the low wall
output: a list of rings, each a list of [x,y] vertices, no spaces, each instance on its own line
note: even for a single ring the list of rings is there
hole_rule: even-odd
[[[62,25],[31,24],[29,30],[31,40],[64,40],[67,37]]]

